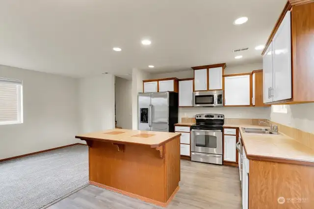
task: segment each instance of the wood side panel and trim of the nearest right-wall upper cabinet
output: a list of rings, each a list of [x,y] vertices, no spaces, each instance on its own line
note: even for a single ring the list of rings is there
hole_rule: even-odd
[[[288,0],[278,18],[262,55],[272,43],[279,26],[282,24],[288,11],[291,11],[291,90],[292,97],[288,100],[266,103],[271,104],[302,104],[314,103],[314,37],[309,31],[314,30],[314,0]]]

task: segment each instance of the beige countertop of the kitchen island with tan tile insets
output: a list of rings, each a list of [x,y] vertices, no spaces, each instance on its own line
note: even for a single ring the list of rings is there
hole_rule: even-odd
[[[76,135],[81,140],[110,141],[121,144],[142,144],[159,147],[168,141],[180,136],[181,133],[138,131],[127,129],[111,129],[101,132],[92,132]]]

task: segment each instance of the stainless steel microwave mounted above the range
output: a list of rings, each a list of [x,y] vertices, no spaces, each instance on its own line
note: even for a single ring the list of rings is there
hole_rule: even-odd
[[[193,106],[222,107],[224,101],[223,90],[195,91]]]

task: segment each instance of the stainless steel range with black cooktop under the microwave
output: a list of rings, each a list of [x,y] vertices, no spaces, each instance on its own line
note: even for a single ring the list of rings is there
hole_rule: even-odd
[[[199,114],[191,126],[191,160],[222,165],[224,115]]]

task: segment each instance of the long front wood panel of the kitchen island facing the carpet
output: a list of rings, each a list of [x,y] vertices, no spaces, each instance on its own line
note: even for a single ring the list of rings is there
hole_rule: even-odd
[[[145,145],[127,144],[124,152],[108,142],[89,148],[89,180],[164,202],[164,159]],[[145,185],[145,186],[144,186]]]

